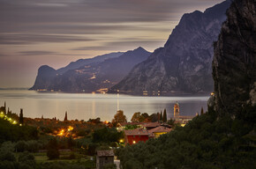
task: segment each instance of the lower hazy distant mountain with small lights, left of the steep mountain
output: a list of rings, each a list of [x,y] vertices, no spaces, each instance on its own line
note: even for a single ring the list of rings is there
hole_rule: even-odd
[[[100,89],[106,90],[117,84],[125,77],[132,67],[143,62],[151,53],[144,48],[136,48],[127,51],[115,58],[105,59],[102,62],[91,62],[83,64],[73,70],[53,70],[49,67],[39,69],[33,90],[54,90],[63,92],[95,92]],[[76,65],[79,65],[76,62]],[[69,65],[72,65],[69,64]],[[71,66],[70,66],[71,68]],[[73,68],[73,67],[72,67]],[[44,72],[50,72],[49,78]],[[64,73],[59,74],[58,71]],[[48,74],[48,73],[46,73]]]

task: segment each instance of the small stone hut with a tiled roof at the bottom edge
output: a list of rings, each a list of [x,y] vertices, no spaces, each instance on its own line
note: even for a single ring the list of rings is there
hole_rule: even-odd
[[[114,164],[113,151],[97,151],[96,169],[103,169],[104,165]]]

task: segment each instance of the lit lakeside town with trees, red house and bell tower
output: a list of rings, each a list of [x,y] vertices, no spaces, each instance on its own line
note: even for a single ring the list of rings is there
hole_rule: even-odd
[[[201,114],[204,114],[203,109]],[[176,103],[173,105],[173,118],[169,120],[166,109],[150,115],[134,113],[131,121],[127,121],[122,110],[117,111],[112,121],[101,121],[100,118],[68,120],[67,112],[64,121],[43,116],[32,119],[24,117],[23,109],[20,109],[19,115],[12,113],[4,102],[4,107],[0,107],[0,117],[1,121],[8,121],[12,126],[30,130],[27,137],[21,138],[4,134],[1,130],[1,147],[5,144],[4,140],[11,140],[14,153],[28,151],[34,155],[35,163],[82,160],[88,163],[89,168],[103,168],[103,165],[117,165],[119,168],[119,148],[157,139],[177,127],[184,127],[194,116],[180,115],[180,106]],[[51,152],[54,151],[52,147],[56,152]]]

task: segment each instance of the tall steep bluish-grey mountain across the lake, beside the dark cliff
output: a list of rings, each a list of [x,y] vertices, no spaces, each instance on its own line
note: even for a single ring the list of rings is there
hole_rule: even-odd
[[[230,0],[184,14],[163,48],[136,65],[112,92],[212,92],[211,62]]]

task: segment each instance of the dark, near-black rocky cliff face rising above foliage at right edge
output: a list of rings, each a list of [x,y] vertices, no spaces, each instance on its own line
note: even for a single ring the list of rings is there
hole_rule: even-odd
[[[236,116],[256,105],[256,1],[234,1],[227,16],[215,43],[215,98],[209,104]]]

